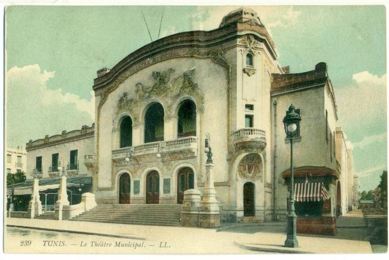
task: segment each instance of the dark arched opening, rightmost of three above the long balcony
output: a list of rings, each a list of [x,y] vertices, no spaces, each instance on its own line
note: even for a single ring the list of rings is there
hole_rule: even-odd
[[[184,100],[178,110],[178,137],[196,136],[196,105]]]

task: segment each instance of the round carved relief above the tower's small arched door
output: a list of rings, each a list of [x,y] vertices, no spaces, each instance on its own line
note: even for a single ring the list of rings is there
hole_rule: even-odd
[[[247,154],[239,162],[238,173],[246,179],[257,179],[261,177],[262,161],[257,153]]]

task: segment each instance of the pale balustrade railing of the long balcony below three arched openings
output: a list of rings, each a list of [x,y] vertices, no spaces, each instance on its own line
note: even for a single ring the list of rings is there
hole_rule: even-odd
[[[152,142],[112,150],[112,159],[126,158],[149,153],[162,153],[184,149],[197,149],[197,137],[185,137],[171,141]]]

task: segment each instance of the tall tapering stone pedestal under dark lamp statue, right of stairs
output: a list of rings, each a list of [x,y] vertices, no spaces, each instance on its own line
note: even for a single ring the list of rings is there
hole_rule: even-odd
[[[220,226],[219,202],[216,200],[216,191],[213,181],[213,163],[205,164],[205,185],[200,202],[198,226],[200,228],[217,228]]]

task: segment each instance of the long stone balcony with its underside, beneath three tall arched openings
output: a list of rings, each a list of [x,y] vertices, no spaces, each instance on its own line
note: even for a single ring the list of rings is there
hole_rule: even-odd
[[[166,159],[185,159],[197,156],[197,137],[185,137],[171,141],[152,142],[112,150],[112,159],[121,160],[127,157],[139,157],[159,154]],[[169,155],[167,155],[169,154]]]

